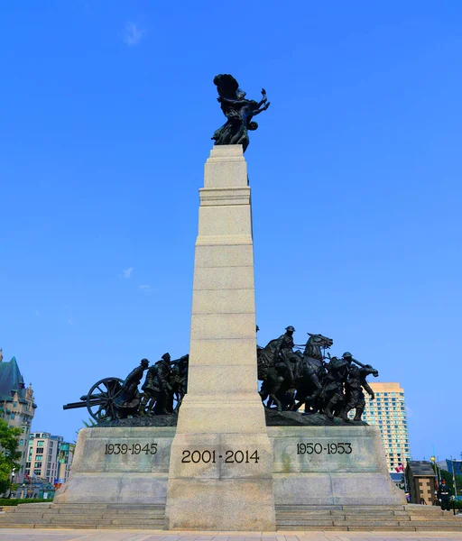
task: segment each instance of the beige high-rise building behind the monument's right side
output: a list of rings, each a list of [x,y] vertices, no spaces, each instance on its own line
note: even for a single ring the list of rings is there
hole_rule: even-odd
[[[363,420],[369,425],[379,426],[388,469],[395,472],[397,466],[402,464],[405,467],[411,460],[404,390],[395,382],[368,383],[374,390],[375,399],[370,399],[365,393]]]

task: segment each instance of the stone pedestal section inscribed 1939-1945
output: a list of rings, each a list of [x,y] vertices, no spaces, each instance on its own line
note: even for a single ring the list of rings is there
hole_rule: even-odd
[[[165,505],[175,426],[82,428],[54,503]]]

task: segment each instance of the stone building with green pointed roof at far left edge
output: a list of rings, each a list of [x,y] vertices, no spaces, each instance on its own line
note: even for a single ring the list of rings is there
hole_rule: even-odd
[[[24,481],[27,445],[35,408],[37,406],[34,403],[32,387],[29,385],[27,389],[25,388],[15,357],[10,362],[3,362],[0,349],[0,416],[5,419],[8,426],[23,430],[23,435],[18,441],[21,450],[21,468],[19,472],[15,472],[15,482]]]

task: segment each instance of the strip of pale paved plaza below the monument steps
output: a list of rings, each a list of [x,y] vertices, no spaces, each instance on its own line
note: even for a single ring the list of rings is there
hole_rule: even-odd
[[[0,541],[452,541],[462,532],[151,532],[1,529]]]

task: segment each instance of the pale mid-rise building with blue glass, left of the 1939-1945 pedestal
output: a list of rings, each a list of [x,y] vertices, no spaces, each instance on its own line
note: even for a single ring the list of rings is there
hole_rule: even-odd
[[[25,472],[31,479],[62,484],[69,477],[74,444],[48,432],[32,432],[29,437]]]

